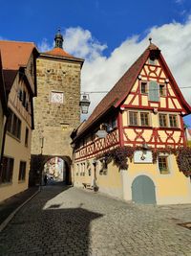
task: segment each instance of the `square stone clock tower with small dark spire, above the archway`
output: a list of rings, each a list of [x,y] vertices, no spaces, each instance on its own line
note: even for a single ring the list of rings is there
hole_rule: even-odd
[[[32,156],[71,160],[70,134],[80,123],[80,74],[84,60],[63,50],[59,30],[54,41],[53,50],[41,53],[36,63]]]

